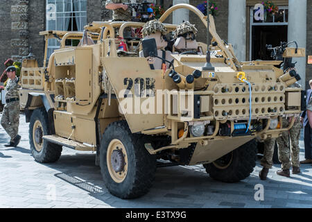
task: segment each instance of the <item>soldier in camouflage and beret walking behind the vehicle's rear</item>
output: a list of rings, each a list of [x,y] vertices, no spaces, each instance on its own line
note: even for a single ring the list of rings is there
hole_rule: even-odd
[[[1,117],[1,126],[10,135],[9,144],[4,146],[16,147],[19,144],[21,136],[18,135],[19,130],[19,92],[17,91],[19,79],[16,76],[16,68],[14,66],[6,69],[9,78],[6,85],[6,105],[3,108]]]

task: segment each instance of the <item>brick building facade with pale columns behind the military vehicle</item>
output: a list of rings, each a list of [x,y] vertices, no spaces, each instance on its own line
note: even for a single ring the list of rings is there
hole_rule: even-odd
[[[55,1],[80,1],[80,0],[55,0]],[[87,23],[93,21],[105,21],[111,19],[112,12],[105,9],[105,0],[83,0],[87,1]],[[203,3],[204,0],[156,0],[157,3],[162,3],[164,8],[169,8],[176,3],[190,3],[193,6]],[[244,47],[236,47],[237,54],[242,55],[241,60],[250,60],[250,8],[259,0],[214,0],[218,4],[218,16],[215,17],[216,30],[221,39],[225,41],[231,40],[235,44],[235,37],[231,32],[239,28],[243,28],[240,31],[242,33],[239,39],[245,42]],[[273,0],[277,6],[288,7],[288,1],[294,0]],[[302,2],[301,2],[302,1]],[[42,66],[44,57],[44,37],[39,35],[40,31],[46,30],[46,2],[47,0],[12,0],[3,1],[0,4],[0,17],[2,21],[0,23],[1,35],[0,35],[0,70],[4,69],[3,62],[7,58],[13,58],[15,60],[21,60],[23,56],[28,55],[30,47],[35,54],[38,65]],[[306,4],[306,55],[312,55],[312,22],[309,19],[312,16],[312,1],[310,0],[296,0],[297,4]],[[240,12],[242,22],[231,25],[233,19],[231,18],[234,8],[239,7],[243,3],[244,8]],[[291,8],[289,8],[291,10]],[[297,12],[298,13],[298,12]],[[193,16],[193,12],[189,12],[188,16],[182,15],[182,17],[175,13],[175,17],[172,15],[166,19],[165,22],[172,23],[178,17],[178,19],[189,19],[189,22],[196,24],[198,28],[197,39],[200,42],[206,42],[206,28],[202,25],[202,22],[197,16]],[[244,20],[245,19],[245,20]],[[237,27],[236,27],[237,26]],[[233,28],[234,27],[234,28]],[[239,31],[236,31],[236,34]],[[291,32],[291,31],[290,31]],[[286,34],[287,35],[287,34]],[[288,31],[289,35],[289,31]],[[234,40],[232,40],[234,38]],[[241,45],[241,44],[240,44]],[[243,53],[242,53],[243,52]],[[304,58],[304,69],[300,67],[300,70],[305,70],[305,82],[309,82],[312,78],[312,65],[307,65],[307,59]],[[302,65],[301,65],[302,66]],[[303,81],[304,83],[304,81]],[[306,85],[307,86],[307,85]]]

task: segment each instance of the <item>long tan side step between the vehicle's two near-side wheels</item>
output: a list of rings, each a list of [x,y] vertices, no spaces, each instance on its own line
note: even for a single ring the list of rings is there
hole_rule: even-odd
[[[68,148],[73,148],[76,151],[96,151],[95,146],[87,146],[80,142],[75,142],[73,140],[65,139],[63,137],[59,137],[58,135],[46,135],[42,137],[46,141],[49,141],[53,144],[58,144],[61,146],[66,146]]]

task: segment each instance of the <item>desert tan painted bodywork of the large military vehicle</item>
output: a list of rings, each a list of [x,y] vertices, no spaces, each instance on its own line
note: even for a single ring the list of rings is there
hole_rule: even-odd
[[[180,8],[194,12],[207,27],[207,17],[188,4],[169,8],[159,21],[164,22],[174,10]],[[172,55],[175,71],[183,80],[196,69],[202,71],[202,76],[190,85],[173,83],[168,77],[171,69],[150,69],[146,58],[139,58],[135,51],[134,44],[139,42],[124,40],[130,51],[117,50],[120,40],[114,36],[115,33],[123,37],[125,28],[142,27],[144,23],[93,22],[85,26],[85,31],[95,43],[78,47],[67,47],[64,42],[67,39],[81,39],[83,33],[42,32],[40,35],[44,35],[46,39],[46,50],[47,41],[55,36],[62,39],[62,49],[55,50],[48,65],[44,60],[42,68],[38,67],[35,61],[24,61],[21,70],[21,92],[24,94],[21,104],[26,104],[28,96],[25,95],[29,93],[41,92],[46,95],[54,109],[55,135],[44,136],[49,142],[71,146],[77,150],[95,151],[98,146],[96,137],[101,139],[110,123],[125,119],[132,133],[171,137],[171,144],[157,149],[147,143],[146,149],[151,155],[159,151],[187,148],[191,143],[197,143],[189,164],[214,162],[251,139],[278,137],[282,132],[289,130],[293,126],[294,118],[291,126],[269,128],[272,119],[277,118],[281,123],[286,115],[296,116],[300,113],[301,89],[287,87],[287,81],[292,81],[291,78],[281,80],[284,72],[274,67],[281,61],[240,62],[232,45],[226,45],[216,33],[214,17],[209,16],[209,21],[212,42],[218,43],[217,46],[209,48],[218,51],[218,56],[223,56],[211,57],[211,64],[215,67],[214,73],[202,71],[206,62],[205,55]],[[169,31],[176,28],[173,24],[165,26]],[[207,44],[199,42],[198,45],[204,53],[207,51]],[[289,48],[284,56],[304,55],[304,49],[298,49],[295,53],[295,49]],[[257,120],[265,125],[262,130],[243,137],[220,136],[218,132],[224,123],[229,124],[233,133],[236,122],[247,123],[250,117],[250,94],[248,84],[242,83],[238,78],[241,72],[252,84],[252,121]],[[164,90],[162,94],[152,96],[155,101],[162,99],[162,107],[155,106],[156,114],[141,112],[141,104],[144,104],[148,97],[139,94],[137,101],[132,100],[128,95],[135,95],[137,92],[135,87],[130,87],[130,83],[145,86],[152,83],[155,92],[157,89]],[[125,93],[128,87],[130,89]],[[55,96],[54,101],[51,95]],[[200,96],[200,117],[196,119],[191,116],[186,120],[187,108],[194,108],[193,95]],[[43,106],[40,97],[34,96],[28,109],[40,106]],[[128,106],[132,106],[134,113],[128,113]],[[158,113],[157,110],[161,112]],[[209,124],[213,129],[209,135],[194,137],[189,126],[195,123]],[[179,130],[183,130],[180,137]],[[114,150],[114,146],[111,149]],[[123,178],[116,180],[122,181]]]

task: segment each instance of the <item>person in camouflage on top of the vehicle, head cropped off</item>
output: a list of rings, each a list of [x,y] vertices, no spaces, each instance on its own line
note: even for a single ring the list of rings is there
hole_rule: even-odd
[[[113,22],[116,21],[131,21],[132,11],[131,8],[123,3],[128,3],[125,0],[107,0],[105,8],[113,10]]]

